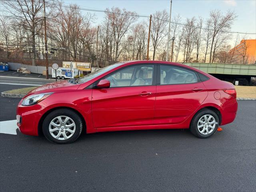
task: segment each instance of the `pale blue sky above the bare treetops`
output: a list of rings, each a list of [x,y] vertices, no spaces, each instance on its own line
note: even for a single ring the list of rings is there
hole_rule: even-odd
[[[150,15],[156,10],[170,11],[170,0],[64,0],[65,4],[78,4],[85,8],[105,10],[112,6],[135,11],[138,14]],[[256,0],[173,0],[172,16],[180,14],[182,22],[186,18],[202,16],[208,18],[210,10],[219,9],[223,12],[234,10],[238,18],[232,31],[256,33]],[[84,11],[86,12],[86,11]],[[104,13],[95,12],[96,23],[101,22]],[[146,18],[141,18],[146,20]],[[256,38],[256,35],[248,36]]]

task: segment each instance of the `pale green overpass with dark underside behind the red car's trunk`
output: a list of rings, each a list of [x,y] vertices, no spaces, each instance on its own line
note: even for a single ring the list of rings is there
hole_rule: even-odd
[[[240,85],[252,84],[256,78],[256,65],[219,64],[219,63],[184,63],[215,76],[221,80],[234,83],[238,80]]]

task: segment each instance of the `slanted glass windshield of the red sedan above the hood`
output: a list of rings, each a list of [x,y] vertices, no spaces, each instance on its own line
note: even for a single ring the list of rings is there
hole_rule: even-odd
[[[92,80],[93,78],[96,78],[102,74],[104,74],[105,72],[109,71],[109,70],[112,70],[120,65],[122,65],[123,63],[115,63],[115,64],[112,64],[110,66],[107,66],[107,67],[104,67],[104,68],[100,68],[99,70],[97,71],[94,71],[92,73],[89,73],[87,74],[86,76],[82,77],[82,78],[79,78],[76,80],[76,83],[77,84],[81,84],[81,83],[84,83],[84,82],[87,82],[87,81],[90,81]]]

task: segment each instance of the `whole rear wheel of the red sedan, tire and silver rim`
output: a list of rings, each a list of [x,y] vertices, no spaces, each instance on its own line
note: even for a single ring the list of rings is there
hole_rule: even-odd
[[[209,138],[218,129],[218,115],[209,109],[203,109],[192,119],[190,131],[199,138]]]

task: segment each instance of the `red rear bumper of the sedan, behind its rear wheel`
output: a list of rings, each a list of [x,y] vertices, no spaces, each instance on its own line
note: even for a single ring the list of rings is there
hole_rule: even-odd
[[[220,125],[226,125],[233,122],[236,118],[237,109],[238,103],[236,101],[236,98],[226,102],[225,107],[222,108],[222,122]]]

